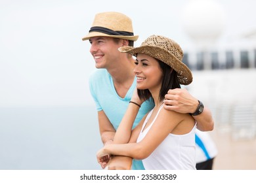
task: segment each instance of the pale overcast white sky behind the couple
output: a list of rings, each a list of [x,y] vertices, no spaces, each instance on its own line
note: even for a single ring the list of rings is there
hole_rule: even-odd
[[[158,34],[189,48],[193,43],[182,22],[188,3],[0,0],[0,107],[93,103],[88,78],[95,64],[89,42],[81,38],[89,31],[95,14],[127,14],[135,34],[140,35],[135,45]],[[255,0],[217,3],[224,10],[220,40],[256,29]]]

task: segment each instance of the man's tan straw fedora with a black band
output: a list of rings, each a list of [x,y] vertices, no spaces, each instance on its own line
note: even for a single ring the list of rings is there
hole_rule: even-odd
[[[95,20],[89,34],[83,41],[91,37],[114,37],[137,41],[138,35],[133,35],[131,18],[119,12],[101,12],[95,15]]]

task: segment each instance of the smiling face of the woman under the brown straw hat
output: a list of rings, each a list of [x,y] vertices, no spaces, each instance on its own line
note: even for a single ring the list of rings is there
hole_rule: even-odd
[[[137,88],[139,90],[148,89],[150,92],[161,88],[163,73],[158,60],[147,54],[138,54],[133,70],[137,76]]]

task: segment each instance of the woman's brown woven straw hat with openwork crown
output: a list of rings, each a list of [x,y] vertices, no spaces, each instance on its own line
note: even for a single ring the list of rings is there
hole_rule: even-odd
[[[135,57],[137,54],[148,54],[163,61],[177,72],[180,84],[188,85],[193,80],[190,69],[182,63],[183,52],[181,46],[167,37],[152,35],[137,48],[123,46],[119,48],[119,51],[132,54]]]

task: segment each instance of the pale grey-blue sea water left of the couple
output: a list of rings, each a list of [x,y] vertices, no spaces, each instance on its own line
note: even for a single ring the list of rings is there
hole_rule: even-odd
[[[101,169],[94,106],[0,108],[0,169]]]

